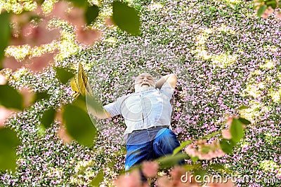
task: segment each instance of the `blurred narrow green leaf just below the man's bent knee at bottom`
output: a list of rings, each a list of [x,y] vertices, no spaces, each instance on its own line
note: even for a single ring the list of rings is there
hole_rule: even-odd
[[[184,153],[178,153],[176,155],[165,155],[157,159],[161,168],[171,167],[177,165],[181,160],[188,158],[188,155]]]

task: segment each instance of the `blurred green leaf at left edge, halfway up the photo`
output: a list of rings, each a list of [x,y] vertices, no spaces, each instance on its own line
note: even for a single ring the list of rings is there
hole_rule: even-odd
[[[9,85],[0,85],[0,104],[6,108],[23,109],[22,95]]]

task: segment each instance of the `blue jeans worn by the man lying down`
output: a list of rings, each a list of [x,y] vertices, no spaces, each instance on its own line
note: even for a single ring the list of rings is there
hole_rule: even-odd
[[[176,134],[164,127],[133,131],[126,142],[125,171],[141,164],[144,160],[154,160],[171,154],[180,146]]]

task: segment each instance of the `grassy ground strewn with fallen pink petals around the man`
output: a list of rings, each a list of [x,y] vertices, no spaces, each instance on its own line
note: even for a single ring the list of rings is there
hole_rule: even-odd
[[[60,2],[63,1],[58,3]],[[67,4],[67,1],[64,2]],[[103,15],[110,13],[107,11],[111,6],[110,1],[104,1],[105,5],[100,6],[100,16],[93,27],[102,30],[103,35],[91,48],[77,43],[75,33],[78,27],[67,25],[66,21],[51,22],[63,34],[59,39],[63,43],[55,42],[51,47],[53,50],[58,45],[61,50],[60,55],[55,55],[55,64],[72,68],[77,62],[81,62],[86,67],[93,90],[103,104],[132,92],[130,86],[126,85],[133,82],[131,76],[136,76],[138,69],[145,67],[153,71],[158,68],[159,76],[166,74],[162,67],[175,70],[178,84],[174,94],[175,115],[171,119],[171,126],[178,133],[180,141],[201,139],[220,130],[219,124],[225,120],[225,113],[239,114],[252,122],[244,130],[245,137],[235,147],[233,154],[198,162],[202,162],[204,166],[231,166],[228,169],[233,171],[241,168],[242,175],[251,174],[266,179],[280,176],[279,167],[270,167],[272,169],[268,171],[260,167],[263,160],[272,160],[276,165],[281,165],[281,142],[278,139],[281,135],[281,106],[280,102],[270,96],[280,90],[280,20],[275,16],[268,16],[266,19],[251,16],[256,15],[249,8],[252,6],[251,1],[236,1],[235,4],[221,1],[217,4],[209,0],[192,3],[168,0],[161,8],[153,11],[149,9],[150,4],[140,2],[130,1],[129,4],[141,11],[141,37],[131,37],[120,32],[117,27],[104,25]],[[24,7],[22,2],[15,4],[18,6],[11,8]],[[54,12],[67,14],[62,11],[67,11],[68,5],[66,7],[55,9]],[[275,15],[277,17],[278,14]],[[106,18],[109,16],[106,15]],[[62,18],[61,20],[69,19],[60,15],[56,17]],[[20,23],[22,20],[15,22]],[[81,28],[83,25],[84,22],[81,22]],[[30,34],[27,37],[30,37],[36,29],[27,27],[25,31],[25,34]],[[65,43],[68,40],[74,44]],[[11,45],[25,44],[11,42]],[[154,46],[152,43],[158,43],[164,50],[155,48],[157,53],[148,53],[148,49]],[[18,56],[25,56],[30,53],[31,47],[22,48],[20,51]],[[14,61],[10,63],[7,59]],[[174,67],[175,62],[180,62],[178,68]],[[269,67],[266,64],[273,65]],[[3,61],[3,66],[11,67],[15,71],[22,66],[22,62],[9,57]],[[20,71],[19,76],[15,76],[18,73],[10,70],[3,71],[7,71],[5,76],[9,79],[8,83],[15,88],[28,85],[35,92],[46,90],[51,97],[36,102],[30,109],[12,114],[6,120],[5,125],[18,133],[22,144],[17,148],[20,158],[17,172],[1,172],[0,183],[4,186],[89,186],[89,180],[96,176],[96,169],[104,169],[105,177],[100,186],[110,186],[112,179],[124,169],[124,145],[113,141],[120,134],[122,136],[124,120],[117,117],[98,123],[110,127],[104,134],[100,131],[93,148],[79,146],[75,141],[63,144],[56,134],[58,123],[54,123],[45,134],[39,134],[39,116],[47,107],[60,107],[71,102],[70,93],[65,91],[69,90],[67,85],[58,83],[51,67],[39,72]],[[259,86],[261,83],[264,87]],[[259,94],[251,95],[245,88],[256,89],[251,91]],[[188,95],[190,90],[193,95]],[[242,104],[249,106],[249,109],[238,111],[237,108]],[[192,107],[188,107],[189,105]],[[209,110],[205,111],[207,107]],[[229,127],[226,128],[229,130]],[[203,155],[206,155],[207,149],[203,148]],[[190,151],[198,154],[198,146]],[[93,166],[77,175],[74,168],[78,160],[89,159],[95,160]],[[107,162],[112,162],[112,167],[108,167],[105,164]],[[192,160],[187,162],[192,164]],[[51,167],[61,170],[62,173],[50,179],[46,174],[53,171]],[[163,180],[166,179],[169,180]],[[264,186],[264,183],[259,180],[247,183],[237,180],[235,186]]]

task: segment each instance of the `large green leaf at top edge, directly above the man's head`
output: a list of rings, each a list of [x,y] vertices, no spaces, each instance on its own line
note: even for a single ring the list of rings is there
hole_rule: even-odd
[[[140,34],[140,16],[138,11],[120,1],[112,3],[112,20],[122,30],[132,35]]]

